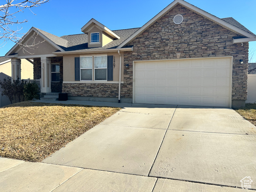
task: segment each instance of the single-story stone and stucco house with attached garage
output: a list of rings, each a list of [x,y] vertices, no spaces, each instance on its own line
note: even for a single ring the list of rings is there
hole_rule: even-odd
[[[33,59],[42,94],[72,100],[245,105],[248,42],[256,35],[231,17],[174,0],[141,28],[112,31],[91,19],[81,31],[58,37],[32,27],[6,58],[14,66]]]

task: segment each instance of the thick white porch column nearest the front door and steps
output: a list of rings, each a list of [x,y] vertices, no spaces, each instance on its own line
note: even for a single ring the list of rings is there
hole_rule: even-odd
[[[41,93],[50,93],[51,90],[51,58],[41,57]]]

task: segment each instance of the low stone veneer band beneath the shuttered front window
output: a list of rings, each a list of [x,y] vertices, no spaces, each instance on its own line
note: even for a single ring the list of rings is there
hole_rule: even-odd
[[[118,84],[63,83],[62,92],[68,96],[118,97]]]

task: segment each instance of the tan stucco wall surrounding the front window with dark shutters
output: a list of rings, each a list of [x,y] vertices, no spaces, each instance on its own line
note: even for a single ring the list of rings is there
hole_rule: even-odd
[[[114,56],[114,64],[115,67],[113,68],[113,82],[119,81],[119,61],[120,57],[119,54],[116,53],[102,53],[102,54],[70,54],[63,56],[63,81],[64,82],[78,82],[75,81],[75,57],[80,56],[100,56],[100,55],[108,55]],[[124,53],[121,52],[122,55],[122,63],[124,62]],[[94,70],[94,69],[93,69]],[[122,65],[122,74],[121,74],[121,81],[124,80],[124,72],[123,72],[123,65]],[[82,81],[87,82],[87,81]]]

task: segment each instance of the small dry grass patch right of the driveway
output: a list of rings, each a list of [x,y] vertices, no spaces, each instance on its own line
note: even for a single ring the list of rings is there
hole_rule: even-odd
[[[246,104],[244,108],[237,109],[236,112],[256,126],[256,104]]]

